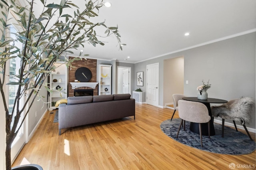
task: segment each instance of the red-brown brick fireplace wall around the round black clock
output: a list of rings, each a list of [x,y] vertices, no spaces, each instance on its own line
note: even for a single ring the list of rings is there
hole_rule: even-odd
[[[73,58],[73,57],[70,57]],[[68,69],[68,97],[74,96],[74,89],[70,82],[74,82],[76,77],[75,73],[79,67],[87,67],[92,72],[92,78],[88,82],[97,82],[97,60],[96,59],[82,59],[78,61],[72,62],[72,66],[74,66],[71,70]],[[92,89],[90,87],[79,87],[76,89]],[[93,95],[98,95],[98,85],[95,89],[93,89]]]

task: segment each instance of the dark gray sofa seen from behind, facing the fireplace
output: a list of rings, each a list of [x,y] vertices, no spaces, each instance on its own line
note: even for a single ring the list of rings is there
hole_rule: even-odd
[[[61,129],[134,116],[135,100],[130,94],[68,97],[59,105]]]

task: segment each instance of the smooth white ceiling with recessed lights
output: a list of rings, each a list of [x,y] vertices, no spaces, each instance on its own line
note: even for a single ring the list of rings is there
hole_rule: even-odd
[[[127,45],[121,51],[114,38],[102,39],[108,43],[86,45],[83,49],[90,58],[136,63],[256,31],[256,0],[105,1],[111,2],[112,7],[103,6],[99,17],[92,19],[106,20],[107,26],[118,25],[121,41]],[[58,0],[54,3],[58,4]],[[186,32],[190,35],[184,36]],[[74,55],[79,53],[80,49]]]

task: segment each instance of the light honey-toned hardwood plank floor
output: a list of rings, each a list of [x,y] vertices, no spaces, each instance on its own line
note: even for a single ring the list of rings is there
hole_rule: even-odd
[[[214,154],[172,140],[160,129],[162,121],[171,118],[172,109],[136,103],[136,120],[128,117],[68,128],[61,136],[58,123],[53,123],[55,113],[49,113],[13,166],[22,160],[40,164],[44,170],[224,170],[230,163],[256,164],[255,151],[238,156]],[[255,134],[251,135],[255,141]]]

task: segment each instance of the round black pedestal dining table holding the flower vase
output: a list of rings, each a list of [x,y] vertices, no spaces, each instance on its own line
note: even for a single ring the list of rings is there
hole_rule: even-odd
[[[214,99],[214,98],[208,98],[207,100],[200,100],[197,97],[183,97],[182,99],[187,100],[187,101],[200,102],[200,103],[203,103],[207,107],[209,116],[211,117],[211,120],[210,120],[210,136],[215,135],[210,103],[227,103],[228,101],[222,100],[222,99]],[[208,136],[208,123],[202,123],[201,125],[202,125],[202,135]],[[190,122],[189,129],[192,132],[195,132],[195,133],[199,134],[198,123]]]

